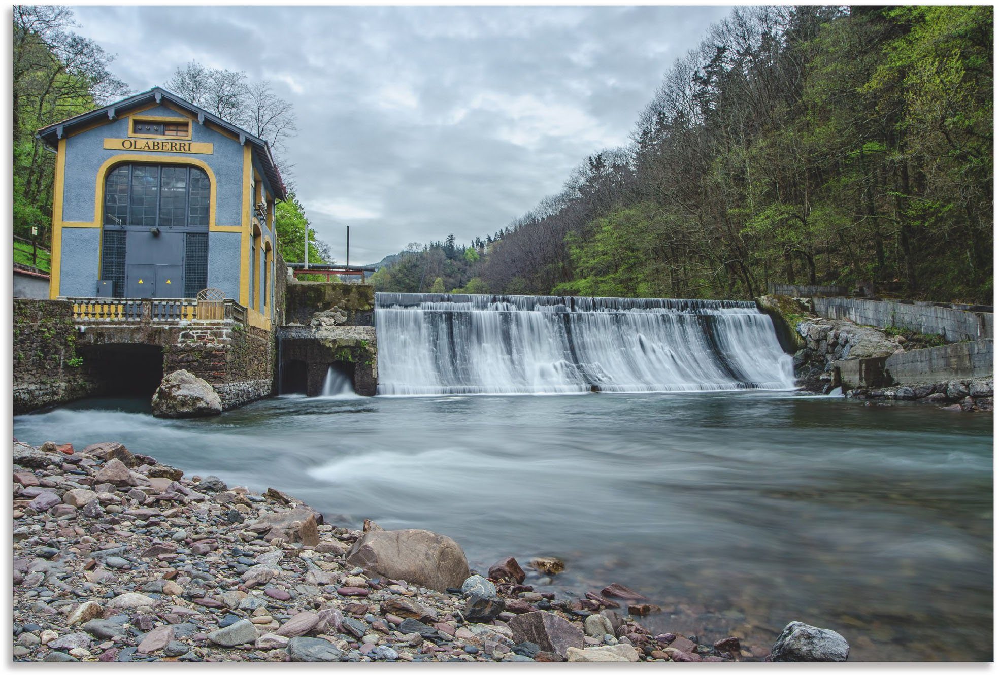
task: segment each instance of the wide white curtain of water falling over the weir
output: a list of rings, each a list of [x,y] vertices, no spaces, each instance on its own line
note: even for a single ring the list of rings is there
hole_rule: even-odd
[[[794,387],[752,303],[376,295],[388,395]]]

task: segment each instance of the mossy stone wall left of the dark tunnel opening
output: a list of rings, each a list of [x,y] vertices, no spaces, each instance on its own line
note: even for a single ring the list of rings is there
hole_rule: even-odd
[[[73,360],[73,306],[14,299],[14,414],[89,395],[99,388],[91,364]]]

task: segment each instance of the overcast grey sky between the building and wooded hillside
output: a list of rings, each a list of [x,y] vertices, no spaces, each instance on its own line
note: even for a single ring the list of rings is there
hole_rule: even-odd
[[[728,7],[97,7],[78,32],[135,91],[244,70],[295,105],[299,199],[344,262],[486,238],[623,145]]]

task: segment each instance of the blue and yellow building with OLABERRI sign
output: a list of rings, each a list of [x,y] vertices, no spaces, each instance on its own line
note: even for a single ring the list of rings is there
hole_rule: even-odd
[[[193,299],[276,319],[268,143],[159,87],[38,131],[57,153],[52,299]]]

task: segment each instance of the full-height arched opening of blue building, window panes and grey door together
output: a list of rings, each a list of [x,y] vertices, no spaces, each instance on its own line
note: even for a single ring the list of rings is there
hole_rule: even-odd
[[[206,288],[210,198],[208,174],[198,167],[123,164],[108,173],[104,183],[101,279],[113,282],[115,297],[126,295],[129,266],[138,260],[129,251],[139,246],[145,258],[138,262],[149,262],[150,245],[143,244],[141,233],[146,233],[148,242],[151,231],[162,245],[152,254],[155,262],[183,266],[183,287],[175,282],[158,289],[157,296],[194,298]],[[177,238],[182,241],[176,243]],[[179,273],[171,276],[176,279]]]

